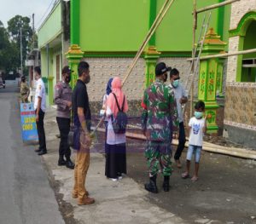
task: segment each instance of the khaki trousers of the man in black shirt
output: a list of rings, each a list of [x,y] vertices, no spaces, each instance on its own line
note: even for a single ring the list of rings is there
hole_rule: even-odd
[[[79,150],[74,168],[74,187],[73,194],[78,195],[79,201],[86,198],[85,178],[90,165],[90,152]]]

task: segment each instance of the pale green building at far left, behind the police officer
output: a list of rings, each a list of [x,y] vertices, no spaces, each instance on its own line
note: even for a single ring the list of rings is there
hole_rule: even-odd
[[[41,71],[47,92],[47,105],[53,105],[55,83],[61,80],[61,68],[67,65],[65,52],[69,47],[68,4],[56,1],[53,9],[38,28],[38,49]]]

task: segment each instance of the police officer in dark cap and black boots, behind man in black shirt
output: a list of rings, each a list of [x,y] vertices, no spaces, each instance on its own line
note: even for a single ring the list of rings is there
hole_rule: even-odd
[[[74,164],[70,159],[71,150],[68,145],[70,112],[72,109],[72,89],[69,85],[71,79],[70,75],[71,70],[68,66],[64,66],[62,69],[62,80],[55,85],[55,104],[57,105],[56,119],[61,133],[58,165],[66,165],[67,168],[74,169]]]

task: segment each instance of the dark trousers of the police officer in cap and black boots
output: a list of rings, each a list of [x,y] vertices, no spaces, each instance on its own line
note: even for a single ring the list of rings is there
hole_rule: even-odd
[[[70,118],[56,118],[61,133],[61,141],[59,146],[60,157],[70,158],[71,150],[68,144],[68,133],[70,129]]]

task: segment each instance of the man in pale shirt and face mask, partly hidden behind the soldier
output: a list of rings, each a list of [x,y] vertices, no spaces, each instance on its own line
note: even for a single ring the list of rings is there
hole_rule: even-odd
[[[170,88],[173,90],[176,103],[177,103],[177,115],[179,120],[179,132],[178,132],[178,145],[177,150],[174,155],[175,162],[177,164],[177,168],[181,168],[181,163],[179,158],[183,152],[185,142],[186,142],[186,134],[183,124],[183,108],[182,104],[185,104],[188,101],[188,95],[183,89],[183,85],[179,82],[179,72],[176,68],[173,68],[170,72]]]

